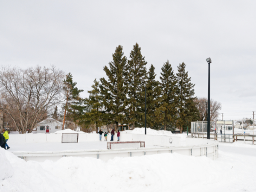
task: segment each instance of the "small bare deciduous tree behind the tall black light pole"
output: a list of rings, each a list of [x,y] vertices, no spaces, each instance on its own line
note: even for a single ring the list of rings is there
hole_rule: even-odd
[[[206,121],[206,101],[208,101],[207,98],[201,97],[195,100],[196,102],[196,107],[198,108],[199,111],[199,121]],[[221,103],[217,102],[213,99],[211,99],[210,102],[210,120],[214,121],[218,119],[219,116],[219,111],[221,110]]]

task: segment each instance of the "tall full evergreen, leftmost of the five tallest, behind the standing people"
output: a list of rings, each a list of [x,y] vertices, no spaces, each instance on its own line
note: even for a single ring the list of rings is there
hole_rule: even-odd
[[[125,122],[125,107],[127,86],[125,76],[127,76],[127,58],[124,56],[122,46],[116,47],[112,54],[113,61],[109,62],[109,68],[104,67],[108,79],[100,79],[100,90],[102,93],[103,104],[105,106],[105,118],[108,124],[114,123],[116,128],[119,123]]]

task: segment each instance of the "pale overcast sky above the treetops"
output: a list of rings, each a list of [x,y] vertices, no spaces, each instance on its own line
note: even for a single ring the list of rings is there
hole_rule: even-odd
[[[0,65],[50,64],[70,72],[88,96],[93,80],[120,44],[129,57],[137,42],[159,79],[167,60],[179,63],[224,119],[252,118],[256,111],[256,1],[0,1]]]

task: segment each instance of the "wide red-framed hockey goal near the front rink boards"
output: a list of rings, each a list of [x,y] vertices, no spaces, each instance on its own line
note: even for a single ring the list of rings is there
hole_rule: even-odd
[[[107,142],[107,149],[141,148],[141,147],[145,147],[145,141]]]

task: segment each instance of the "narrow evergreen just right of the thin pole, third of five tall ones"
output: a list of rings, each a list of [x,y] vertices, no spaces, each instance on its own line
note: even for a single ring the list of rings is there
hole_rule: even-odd
[[[161,89],[159,86],[159,81],[155,80],[156,74],[154,72],[155,67],[151,64],[148,71],[148,80],[147,80],[147,127],[156,128],[156,118],[155,111],[159,107],[159,99],[161,94]],[[143,116],[144,117],[144,116]],[[144,117],[145,118],[145,117]],[[143,122],[145,119],[143,119]],[[145,123],[144,123],[145,124]]]

